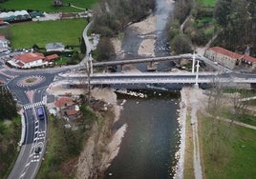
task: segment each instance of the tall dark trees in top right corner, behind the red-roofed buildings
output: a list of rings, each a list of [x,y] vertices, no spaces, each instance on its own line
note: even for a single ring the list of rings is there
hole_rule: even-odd
[[[216,45],[256,56],[256,1],[218,0],[213,13],[220,33]]]

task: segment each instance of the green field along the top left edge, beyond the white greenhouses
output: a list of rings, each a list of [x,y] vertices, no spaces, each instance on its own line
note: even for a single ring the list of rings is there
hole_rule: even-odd
[[[72,5],[83,9],[92,9],[96,2],[97,0],[63,0],[65,5],[71,3]],[[0,6],[6,10],[40,10],[46,12],[81,11],[67,6],[55,9],[53,7],[53,0],[9,0],[5,3],[1,3]]]

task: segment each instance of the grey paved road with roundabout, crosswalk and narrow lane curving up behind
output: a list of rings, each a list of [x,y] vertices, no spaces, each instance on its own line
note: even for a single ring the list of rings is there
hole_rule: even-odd
[[[15,70],[4,65],[8,56],[0,54],[0,80],[6,83],[6,87],[11,89],[14,98],[23,106],[25,119],[25,130],[23,130],[25,138],[24,141],[21,141],[23,145],[9,179],[35,178],[46,149],[48,123],[47,117],[45,120],[38,120],[36,108],[44,107],[46,89],[56,79],[56,74],[82,69],[90,60],[91,45],[86,34],[91,24],[83,31],[83,38],[87,46],[86,56],[80,64],[75,66],[41,70]],[[36,80],[33,83],[27,83],[26,79],[28,78]],[[47,115],[45,114],[45,116]],[[35,148],[38,146],[42,151],[35,153]]]

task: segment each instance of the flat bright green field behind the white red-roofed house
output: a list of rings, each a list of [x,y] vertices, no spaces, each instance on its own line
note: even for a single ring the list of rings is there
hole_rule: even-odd
[[[61,42],[65,46],[78,46],[78,38],[81,37],[86,25],[85,19],[16,24],[11,26],[11,48],[30,49],[34,44],[39,48],[45,48],[46,44],[53,42]]]

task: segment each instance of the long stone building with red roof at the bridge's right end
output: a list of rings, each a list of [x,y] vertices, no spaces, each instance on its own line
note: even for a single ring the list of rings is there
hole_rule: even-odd
[[[220,47],[213,47],[205,50],[204,56],[225,68],[233,70],[240,65],[244,55]]]

